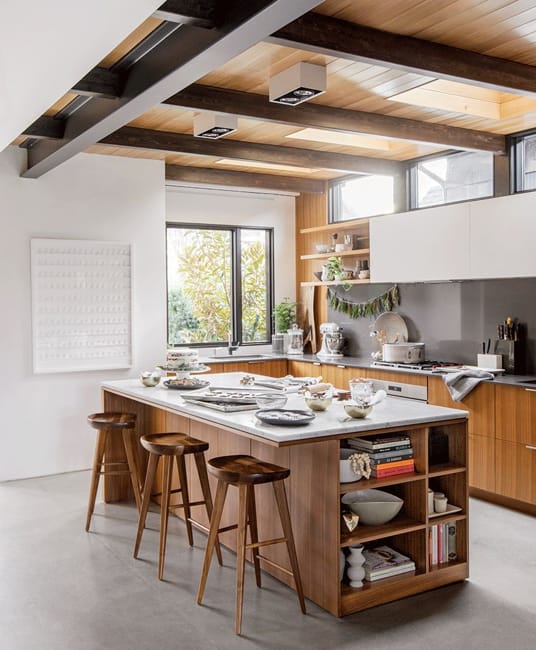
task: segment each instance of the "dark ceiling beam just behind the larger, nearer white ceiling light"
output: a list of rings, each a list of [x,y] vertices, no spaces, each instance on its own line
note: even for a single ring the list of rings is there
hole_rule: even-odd
[[[281,106],[270,103],[268,97],[256,93],[226,90],[193,84],[167,99],[165,104],[218,111],[266,122],[314,126],[331,131],[367,133],[397,140],[425,142],[453,149],[506,153],[503,135],[462,129],[460,127],[420,122],[379,113],[350,111],[320,104],[304,103],[299,106]]]

